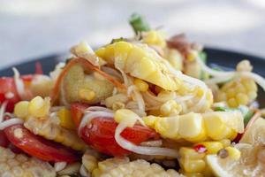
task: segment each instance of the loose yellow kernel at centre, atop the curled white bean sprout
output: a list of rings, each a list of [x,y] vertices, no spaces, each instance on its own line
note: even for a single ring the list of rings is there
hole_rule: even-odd
[[[125,121],[128,127],[133,127],[138,117],[139,116],[136,113],[127,109],[117,110],[114,114],[114,119],[117,123]]]

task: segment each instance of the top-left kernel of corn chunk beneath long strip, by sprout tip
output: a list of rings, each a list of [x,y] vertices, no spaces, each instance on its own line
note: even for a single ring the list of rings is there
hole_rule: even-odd
[[[181,159],[202,159],[205,157],[205,153],[199,153],[193,148],[182,147],[179,149],[179,155]]]

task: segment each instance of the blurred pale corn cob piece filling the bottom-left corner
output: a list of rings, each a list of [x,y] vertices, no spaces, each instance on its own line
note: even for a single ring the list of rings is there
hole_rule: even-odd
[[[55,169],[47,162],[15,154],[0,146],[0,176],[2,177],[56,177]]]

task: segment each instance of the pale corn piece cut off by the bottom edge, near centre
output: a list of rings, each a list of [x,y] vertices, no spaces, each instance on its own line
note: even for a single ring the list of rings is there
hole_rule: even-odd
[[[109,158],[98,163],[98,168],[93,171],[93,177],[111,177],[111,176],[183,176],[173,169],[165,171],[158,164],[150,164],[145,160],[131,161],[129,158]]]

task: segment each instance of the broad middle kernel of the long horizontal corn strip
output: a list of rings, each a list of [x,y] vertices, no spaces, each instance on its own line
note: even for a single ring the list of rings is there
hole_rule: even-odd
[[[178,134],[186,140],[203,141],[206,139],[203,120],[199,113],[187,113],[179,116]]]

